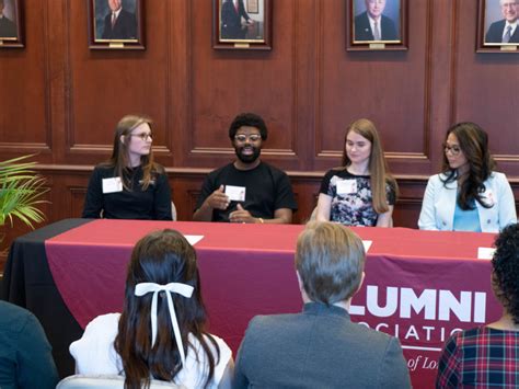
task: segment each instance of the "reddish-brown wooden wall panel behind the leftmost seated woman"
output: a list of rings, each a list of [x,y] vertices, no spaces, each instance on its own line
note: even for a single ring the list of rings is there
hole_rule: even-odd
[[[69,0],[68,4],[69,163],[106,159],[115,125],[128,113],[153,118],[154,151],[168,160],[170,2],[146,3],[146,50],[89,49],[85,3]]]

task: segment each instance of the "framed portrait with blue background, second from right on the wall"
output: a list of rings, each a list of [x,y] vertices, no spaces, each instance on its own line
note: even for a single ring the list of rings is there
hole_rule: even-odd
[[[348,50],[406,50],[407,0],[345,0]]]

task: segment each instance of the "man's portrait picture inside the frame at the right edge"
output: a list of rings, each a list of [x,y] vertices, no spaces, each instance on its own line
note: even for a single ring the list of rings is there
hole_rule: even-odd
[[[499,20],[495,21],[496,16]],[[485,10],[485,21],[492,23],[485,34],[485,44],[519,44],[519,0],[489,2]]]

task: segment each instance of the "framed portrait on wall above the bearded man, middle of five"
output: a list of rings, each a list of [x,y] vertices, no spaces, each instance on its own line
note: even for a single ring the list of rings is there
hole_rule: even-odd
[[[212,0],[212,47],[272,49],[272,0]]]

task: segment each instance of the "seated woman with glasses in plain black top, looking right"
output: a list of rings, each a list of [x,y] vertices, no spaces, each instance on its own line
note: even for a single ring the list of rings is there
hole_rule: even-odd
[[[153,161],[151,119],[127,115],[115,128],[112,158],[90,178],[83,218],[172,220],[164,168]]]

